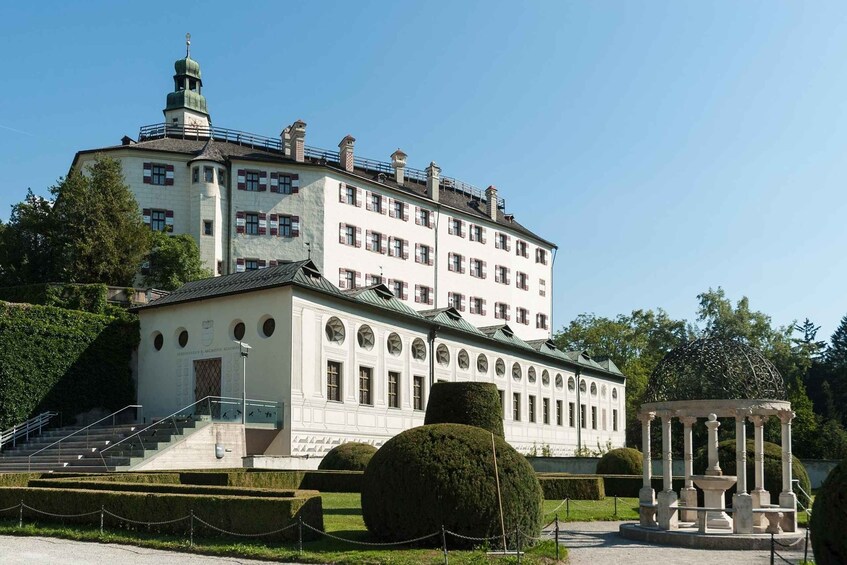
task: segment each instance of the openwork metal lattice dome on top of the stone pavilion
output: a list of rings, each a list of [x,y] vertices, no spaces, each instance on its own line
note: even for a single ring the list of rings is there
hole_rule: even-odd
[[[759,351],[716,337],[677,347],[650,375],[647,402],[707,399],[784,400],[785,383]]]

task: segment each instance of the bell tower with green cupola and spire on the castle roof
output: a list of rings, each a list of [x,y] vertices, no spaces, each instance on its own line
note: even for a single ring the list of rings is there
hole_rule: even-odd
[[[209,135],[212,119],[202,94],[200,63],[191,58],[191,34],[185,34],[185,58],[174,63],[174,91],[168,93],[165,123],[188,132]]]

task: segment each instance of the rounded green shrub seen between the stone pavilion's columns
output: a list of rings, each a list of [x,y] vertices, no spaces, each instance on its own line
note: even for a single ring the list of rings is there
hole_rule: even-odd
[[[753,474],[755,471],[755,443],[753,440],[747,440],[747,492],[756,488],[756,478]],[[782,448],[775,443],[765,442],[765,490],[771,493],[771,504],[779,503],[779,493],[782,492]],[[702,475],[709,461],[708,451],[706,447],[697,451],[694,457],[694,474]],[[724,475],[735,475],[735,440],[727,439],[718,444],[718,461],[721,465],[721,470]],[[809,474],[806,468],[800,463],[800,460],[791,456],[791,469],[793,478],[800,479],[800,486],[804,491],[811,493],[812,484],[809,481]],[[735,487],[726,491],[727,504],[732,504],[732,495],[735,493]],[[803,505],[804,508],[809,506],[809,498],[802,492],[797,491],[797,502]]]

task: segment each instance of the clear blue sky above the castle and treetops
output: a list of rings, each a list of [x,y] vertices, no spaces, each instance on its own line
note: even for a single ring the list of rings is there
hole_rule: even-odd
[[[3,3],[0,218],[162,121],[187,31],[215,125],[496,185],[560,247],[556,329],[719,285],[847,314],[847,3]]]

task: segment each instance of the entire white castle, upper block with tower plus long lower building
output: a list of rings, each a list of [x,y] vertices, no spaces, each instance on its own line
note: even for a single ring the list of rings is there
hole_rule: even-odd
[[[556,246],[493,186],[412,169],[399,149],[357,157],[349,135],[309,147],[300,120],[279,138],[213,126],[200,65],[187,53],[175,70],[164,123],[73,164],[119,160],[144,221],[190,234],[218,275],[138,310],[145,414],[240,396],[244,340],[248,396],[283,407],[253,451],[379,445],[423,422],[438,380],[496,383],[524,452],[624,445],[624,376],[550,341]]]

